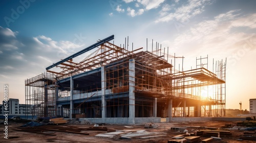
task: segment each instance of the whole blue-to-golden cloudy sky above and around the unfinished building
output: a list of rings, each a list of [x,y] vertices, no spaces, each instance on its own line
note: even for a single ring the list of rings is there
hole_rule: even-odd
[[[134,47],[146,38],[184,56],[184,70],[196,57],[227,58],[226,108],[249,110],[256,98],[256,1],[0,1],[0,100],[25,103],[25,79],[98,39],[129,36]],[[151,45],[149,42],[149,45]],[[145,49],[144,49],[145,50]],[[84,57],[85,58],[85,57]]]

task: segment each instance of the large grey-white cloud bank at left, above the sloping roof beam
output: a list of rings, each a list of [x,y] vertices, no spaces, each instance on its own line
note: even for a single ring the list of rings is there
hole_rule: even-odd
[[[20,36],[10,37],[6,31],[14,33],[0,28],[0,61],[5,61],[0,62],[0,68],[1,74],[6,77],[41,73],[49,64],[80,51],[83,46],[70,41],[54,41],[44,35],[20,39]]]

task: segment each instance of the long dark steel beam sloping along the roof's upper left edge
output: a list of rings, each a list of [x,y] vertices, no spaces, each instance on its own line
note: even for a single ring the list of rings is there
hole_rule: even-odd
[[[65,59],[63,59],[63,60],[61,60],[61,61],[58,61],[58,62],[56,62],[56,63],[54,63],[54,64],[52,64],[52,65],[46,67],[46,70],[51,69],[51,68],[53,68],[53,67],[59,65],[60,63],[66,62],[66,61],[68,61],[68,60],[70,60],[70,59],[73,59],[73,58],[75,58],[75,57],[77,57],[77,56],[79,56],[79,55],[81,55],[81,54],[83,54],[83,53],[86,53],[86,52],[88,52],[88,51],[94,49],[95,47],[100,46],[101,44],[103,44],[103,43],[105,43],[105,42],[108,42],[108,41],[110,41],[110,40],[113,40],[113,39],[114,39],[114,35],[111,35],[111,36],[109,36],[109,37],[107,37],[107,38],[105,38],[105,39],[103,39],[103,40],[100,40],[99,42],[88,46],[86,49],[83,49],[83,50],[81,50],[81,51],[79,51],[79,52],[77,52],[77,53],[75,53],[75,54],[73,54],[73,55],[71,55],[71,56],[69,56],[69,57],[67,57],[67,58],[65,58]]]

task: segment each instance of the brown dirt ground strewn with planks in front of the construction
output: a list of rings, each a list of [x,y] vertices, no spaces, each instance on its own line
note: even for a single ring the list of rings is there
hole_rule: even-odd
[[[171,127],[182,127],[182,126],[200,126],[200,127],[216,127],[221,128],[222,126],[226,124],[234,125],[234,122],[186,122],[186,123],[157,123],[156,125],[159,125],[159,128],[155,129],[146,129],[146,131],[149,132],[164,132],[166,136],[160,136],[160,137],[154,137],[154,138],[148,138],[148,139],[116,139],[108,138],[108,137],[96,137],[95,135],[100,133],[106,133],[106,131],[91,131],[86,130],[82,132],[89,133],[89,135],[83,135],[83,134],[75,134],[75,133],[66,133],[66,132],[54,132],[56,136],[50,136],[50,135],[44,135],[44,134],[37,134],[37,133],[29,133],[29,132],[22,132],[22,131],[14,131],[13,129],[16,129],[20,127],[21,125],[24,125],[22,123],[9,123],[8,125],[8,137],[9,139],[4,138],[4,127],[5,125],[1,124],[1,138],[0,142],[93,142],[93,143],[103,143],[103,142],[129,142],[129,143],[156,143],[156,142],[165,142],[169,139],[172,139],[172,136],[176,136],[179,134],[182,134],[182,132],[175,132],[171,131]],[[44,125],[47,126],[47,125]],[[56,129],[58,127],[67,127],[67,126],[73,126],[73,127],[92,127],[93,125],[68,125],[68,124],[62,124],[62,125],[56,125]],[[104,125],[104,127],[107,127],[108,129],[130,129],[125,128],[125,125]],[[131,126],[131,125],[126,125]],[[135,128],[133,129],[145,129],[144,125],[134,125]],[[187,128],[188,132],[194,132],[194,128]],[[231,136],[224,136],[221,137],[221,140],[214,140],[213,142],[256,142],[256,140],[239,140],[239,134],[243,134],[244,131],[240,130],[230,130],[232,135]],[[14,137],[14,138],[12,138]],[[201,137],[201,139],[205,139],[208,137]]]

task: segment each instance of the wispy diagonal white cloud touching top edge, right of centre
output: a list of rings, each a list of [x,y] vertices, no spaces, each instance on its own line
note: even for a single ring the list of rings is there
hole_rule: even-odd
[[[166,15],[166,13],[162,11],[163,13],[160,13],[160,18],[158,18],[155,22],[168,22],[174,19],[180,22],[187,21],[189,18],[202,13],[204,11],[204,6],[208,4],[210,4],[208,1],[189,1],[187,5],[182,5],[181,7],[177,8],[173,13],[169,13]]]

